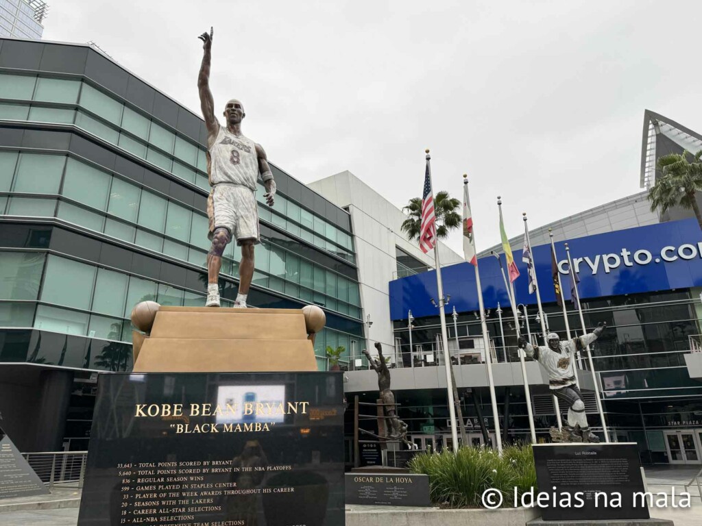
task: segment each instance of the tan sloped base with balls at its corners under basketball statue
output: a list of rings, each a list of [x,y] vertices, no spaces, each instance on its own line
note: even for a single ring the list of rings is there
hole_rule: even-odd
[[[159,306],[152,326],[140,305],[134,325],[149,335],[133,333],[134,372],[279,372],[316,371],[314,333],[324,326],[324,313],[314,311],[322,326],[310,330],[303,309],[217,309]],[[314,318],[314,316],[312,316]],[[306,323],[307,320],[307,323]],[[312,324],[314,325],[314,324]],[[317,323],[319,325],[319,323]]]

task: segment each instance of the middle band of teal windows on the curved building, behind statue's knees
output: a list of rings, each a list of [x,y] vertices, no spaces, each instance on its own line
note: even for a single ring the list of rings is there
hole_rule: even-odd
[[[206,215],[72,156],[0,151],[0,214],[58,217],[206,267]],[[256,249],[254,284],[361,317],[357,282],[270,239],[262,241]],[[231,243],[223,274],[237,276],[240,258],[239,247]]]

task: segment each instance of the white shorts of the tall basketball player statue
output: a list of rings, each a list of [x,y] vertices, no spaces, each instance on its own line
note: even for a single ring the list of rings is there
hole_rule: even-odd
[[[247,240],[254,244],[260,242],[256,196],[247,187],[215,184],[207,198],[207,217],[210,239],[216,229],[225,228],[237,240],[237,245]]]

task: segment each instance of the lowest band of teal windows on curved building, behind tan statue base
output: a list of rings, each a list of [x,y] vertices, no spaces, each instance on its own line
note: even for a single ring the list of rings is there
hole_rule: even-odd
[[[0,327],[131,342],[131,309],[147,300],[201,306],[204,294],[60,255],[0,250]],[[349,349],[357,339],[325,328],[314,345],[319,369],[327,345]]]

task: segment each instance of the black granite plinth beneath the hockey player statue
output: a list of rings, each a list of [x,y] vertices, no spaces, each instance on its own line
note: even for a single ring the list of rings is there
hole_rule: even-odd
[[[635,443],[535,444],[534,461],[543,520],[649,518]]]

